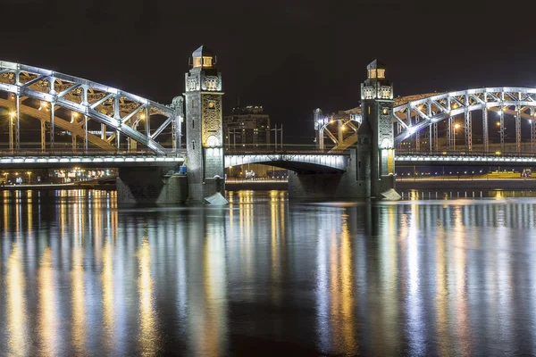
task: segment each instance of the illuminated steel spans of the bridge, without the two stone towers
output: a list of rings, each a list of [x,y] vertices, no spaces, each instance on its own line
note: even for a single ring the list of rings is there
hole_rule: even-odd
[[[536,152],[536,125],[532,124],[535,108],[536,88],[493,87],[398,98],[393,122],[396,160],[419,164],[536,164],[534,155],[529,154]],[[490,143],[489,112],[497,115],[498,144]],[[482,140],[473,144],[474,113],[481,114]],[[346,170],[349,156],[345,150],[356,143],[360,109],[330,116],[317,110],[314,115],[317,150],[228,152],[225,166],[258,162],[289,170]],[[514,143],[507,142],[505,122],[509,116],[515,123]],[[181,149],[183,117],[181,96],[172,104],[158,104],[87,79],[0,62],[0,125],[5,128],[7,123],[9,137],[9,146],[0,148],[3,169],[178,165],[185,156]],[[523,120],[530,126],[522,125]],[[40,124],[40,145],[34,147],[21,141],[21,124],[30,125],[30,121]],[[447,127],[447,140],[443,142],[440,125]],[[528,145],[522,140],[523,128],[530,129]],[[462,147],[461,143],[456,147],[456,130],[465,133]],[[67,143],[71,150],[65,152],[58,140],[64,133],[71,137],[71,143]],[[331,138],[334,145],[324,145],[324,137]],[[412,146],[403,146],[407,143]],[[507,154],[507,145],[515,145],[511,150],[514,156]]]

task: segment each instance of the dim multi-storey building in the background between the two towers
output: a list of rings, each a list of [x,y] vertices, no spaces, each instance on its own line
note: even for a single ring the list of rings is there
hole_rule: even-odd
[[[232,108],[230,115],[223,117],[225,146],[262,147],[270,144],[270,115],[260,105]]]

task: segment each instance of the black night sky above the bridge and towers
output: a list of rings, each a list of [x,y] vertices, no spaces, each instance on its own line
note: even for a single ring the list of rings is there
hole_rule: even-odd
[[[0,59],[168,104],[205,45],[225,112],[264,105],[286,141],[309,143],[314,108],[358,105],[374,58],[395,95],[536,87],[536,25],[519,11],[532,1],[1,0]]]

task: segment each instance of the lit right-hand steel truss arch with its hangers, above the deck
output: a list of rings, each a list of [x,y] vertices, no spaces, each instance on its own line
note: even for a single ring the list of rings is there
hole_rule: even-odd
[[[536,153],[535,108],[536,88],[489,87],[398,97],[393,110],[395,143],[398,149],[412,149],[417,153],[440,149],[456,151],[456,139],[457,148],[461,146],[467,152]],[[492,127],[498,130],[498,143],[490,142],[490,132],[493,132],[490,112],[494,112],[497,120],[497,126]],[[478,134],[473,132],[475,119],[480,120]],[[507,119],[511,120],[508,125]],[[356,144],[361,120],[359,107],[330,115],[323,115],[316,109],[317,147],[328,149],[326,138],[335,151]],[[523,120],[527,124],[523,124]],[[512,128],[510,124],[513,124],[515,135],[508,140],[506,129]],[[529,135],[523,136],[527,130]],[[440,132],[446,135],[441,137]],[[456,134],[463,134],[463,138],[456,138]],[[526,137],[525,141],[523,137]]]

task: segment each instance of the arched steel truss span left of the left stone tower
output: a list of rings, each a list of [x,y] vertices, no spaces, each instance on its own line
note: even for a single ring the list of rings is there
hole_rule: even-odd
[[[73,146],[76,137],[81,137],[86,150],[89,143],[106,149],[115,146],[119,150],[121,136],[124,136],[131,151],[136,151],[140,144],[155,154],[167,153],[167,149],[180,152],[180,123],[184,117],[181,96],[174,98],[172,104],[164,105],[87,79],[2,61],[0,91],[8,93],[8,99],[2,99],[0,105],[10,110],[12,151],[19,150],[21,145],[21,112],[35,117],[32,112],[36,114],[35,111],[45,107],[46,111],[42,112],[47,112],[46,117],[41,114],[37,118],[41,120],[42,151],[46,151],[47,144],[54,150],[54,128],[59,127],[71,132]],[[27,104],[29,99],[39,101],[39,109],[24,108],[31,106]],[[59,118],[56,115],[59,111],[71,112],[71,120]],[[88,132],[88,120],[100,123],[100,138]],[[46,143],[46,123],[50,128],[49,143]],[[164,147],[159,137],[164,130],[171,132],[168,147]]]

